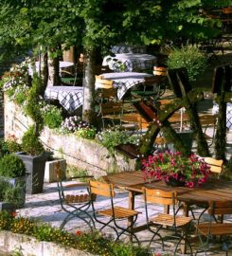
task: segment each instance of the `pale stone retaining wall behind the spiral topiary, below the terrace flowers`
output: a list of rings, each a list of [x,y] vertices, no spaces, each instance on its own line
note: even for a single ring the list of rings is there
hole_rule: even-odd
[[[14,135],[19,141],[27,128],[33,123],[28,119],[22,107],[9,101],[5,95],[5,138]],[[57,157],[66,159],[67,164],[89,171],[99,176],[106,173],[135,170],[135,160],[124,155],[110,155],[109,151],[96,140],[75,137],[74,135],[58,135],[45,127],[41,139],[45,146]]]

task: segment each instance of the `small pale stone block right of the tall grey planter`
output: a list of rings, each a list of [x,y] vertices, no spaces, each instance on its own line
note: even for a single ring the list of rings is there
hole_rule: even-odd
[[[62,178],[65,178],[66,160],[57,158],[52,161],[45,162],[45,182],[50,183],[57,181],[57,174],[55,173],[55,164],[58,162],[61,166]]]

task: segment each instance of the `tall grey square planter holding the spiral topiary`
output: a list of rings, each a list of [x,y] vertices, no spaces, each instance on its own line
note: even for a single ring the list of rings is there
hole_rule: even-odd
[[[43,155],[26,155],[24,152],[18,152],[16,155],[18,155],[26,165],[26,192],[30,194],[43,192],[45,161],[50,156],[50,153],[45,153]]]

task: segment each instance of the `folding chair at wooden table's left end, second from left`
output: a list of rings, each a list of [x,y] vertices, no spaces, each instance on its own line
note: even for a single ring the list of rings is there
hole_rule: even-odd
[[[106,227],[110,227],[111,229],[114,229],[116,232],[116,241],[120,238],[122,234],[130,235],[135,238],[136,242],[139,244],[139,241],[137,237],[135,236],[134,232],[131,230],[134,226],[134,222],[137,219],[137,215],[140,213],[136,210],[130,210],[123,207],[118,207],[114,205],[114,197],[116,196],[116,192],[114,190],[114,184],[106,184],[99,181],[90,181],[90,192],[91,196],[97,196],[98,195],[108,197],[110,198],[110,204],[111,207],[103,210],[96,210],[95,208],[95,201],[92,200],[92,207],[94,210],[94,218],[95,220],[102,225],[102,227],[99,229],[100,231]],[[102,220],[99,220],[99,216],[108,217],[109,220],[104,222]],[[122,220],[133,220],[131,225],[128,225],[127,227],[122,227],[121,225],[118,225],[119,221]],[[111,225],[113,224],[113,225]]]

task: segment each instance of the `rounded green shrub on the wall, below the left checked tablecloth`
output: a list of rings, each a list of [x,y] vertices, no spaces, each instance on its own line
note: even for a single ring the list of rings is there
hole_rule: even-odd
[[[62,109],[54,105],[45,105],[42,109],[45,125],[55,129],[62,124]]]

